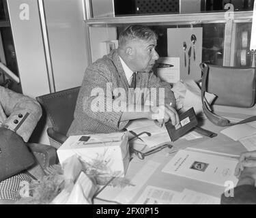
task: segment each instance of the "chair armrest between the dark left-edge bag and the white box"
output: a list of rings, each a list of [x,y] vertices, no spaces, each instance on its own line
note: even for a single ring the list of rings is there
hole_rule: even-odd
[[[53,146],[46,144],[27,143],[29,149],[35,155],[35,159],[38,161],[43,169],[48,168],[57,161],[57,152]]]

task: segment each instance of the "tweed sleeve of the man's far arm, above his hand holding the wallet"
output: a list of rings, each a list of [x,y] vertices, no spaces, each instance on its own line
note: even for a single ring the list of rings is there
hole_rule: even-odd
[[[174,97],[173,91],[171,91],[171,84],[168,82],[162,82],[154,72],[149,73],[149,85],[148,88],[156,88],[156,101],[157,105],[161,104],[160,99],[165,104],[170,104],[173,108],[176,108],[176,99]],[[162,88],[162,91],[160,91]],[[153,95],[154,96],[154,95]]]

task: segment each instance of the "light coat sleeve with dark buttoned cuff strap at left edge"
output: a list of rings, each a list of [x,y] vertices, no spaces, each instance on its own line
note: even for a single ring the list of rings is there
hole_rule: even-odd
[[[27,142],[35,129],[40,117],[42,108],[34,99],[0,87],[0,103],[3,124],[9,129],[16,131]]]

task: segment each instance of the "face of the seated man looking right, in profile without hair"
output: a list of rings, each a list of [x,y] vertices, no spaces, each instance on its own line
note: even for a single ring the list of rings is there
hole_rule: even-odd
[[[134,50],[131,61],[133,70],[137,72],[150,72],[159,58],[155,50],[156,40],[134,40],[132,48]]]

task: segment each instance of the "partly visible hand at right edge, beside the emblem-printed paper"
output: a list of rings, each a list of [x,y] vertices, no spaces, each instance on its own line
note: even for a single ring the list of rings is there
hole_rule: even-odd
[[[244,168],[256,168],[256,151],[242,153],[236,166],[235,176],[239,177]]]

